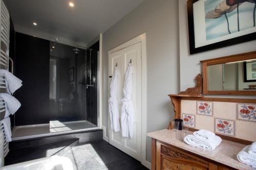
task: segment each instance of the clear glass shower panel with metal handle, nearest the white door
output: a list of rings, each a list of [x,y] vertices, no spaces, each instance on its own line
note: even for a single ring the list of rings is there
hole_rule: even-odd
[[[98,52],[50,46],[50,133],[97,127]]]

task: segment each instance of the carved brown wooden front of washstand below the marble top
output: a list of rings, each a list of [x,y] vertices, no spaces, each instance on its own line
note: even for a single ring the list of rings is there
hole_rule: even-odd
[[[196,156],[169,147],[163,143],[156,143],[156,169],[201,170],[218,169],[216,164],[205,161]]]

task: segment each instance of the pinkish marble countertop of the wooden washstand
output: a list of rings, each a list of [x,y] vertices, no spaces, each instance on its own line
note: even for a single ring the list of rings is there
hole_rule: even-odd
[[[222,140],[221,144],[215,150],[207,151],[201,148],[191,147],[186,144],[183,141],[183,138],[189,133],[192,132],[184,133],[182,131],[175,132],[173,130],[164,129],[147,133],[147,136],[236,169],[256,169],[237,160],[237,154],[246,146],[245,144]]]

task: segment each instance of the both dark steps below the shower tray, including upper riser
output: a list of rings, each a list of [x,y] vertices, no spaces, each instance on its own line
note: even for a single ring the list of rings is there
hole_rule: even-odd
[[[76,133],[59,134],[15,140],[9,142],[9,154],[5,165],[39,159],[52,155],[62,155],[79,143],[102,139],[101,129]]]

